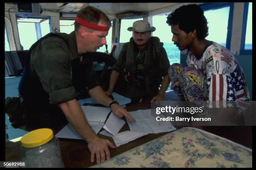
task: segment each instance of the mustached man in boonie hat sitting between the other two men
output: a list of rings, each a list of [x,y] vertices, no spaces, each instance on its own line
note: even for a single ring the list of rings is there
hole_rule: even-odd
[[[120,73],[125,75],[121,94],[131,98],[131,103],[142,100],[163,100],[169,85],[170,66],[163,42],[151,36],[156,30],[146,20],[138,20],[127,29],[133,32],[130,42],[123,44],[118,59],[113,65],[107,94],[111,94]],[[164,78],[163,78],[164,77]],[[161,88],[159,90],[161,84]],[[120,89],[119,89],[120,90]]]

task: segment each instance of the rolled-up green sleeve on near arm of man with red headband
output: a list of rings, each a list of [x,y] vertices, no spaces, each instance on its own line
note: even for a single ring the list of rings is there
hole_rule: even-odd
[[[56,37],[43,40],[31,53],[32,65],[53,105],[77,96],[72,84],[71,60],[66,42]]]

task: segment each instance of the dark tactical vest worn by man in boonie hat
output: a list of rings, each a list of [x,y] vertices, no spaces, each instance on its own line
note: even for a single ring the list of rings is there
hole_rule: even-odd
[[[125,75],[128,80],[128,84],[138,88],[145,89],[149,92],[150,86],[161,84],[162,77],[159,72],[159,58],[158,53],[163,47],[163,43],[160,42],[158,37],[151,37],[148,45],[146,46],[146,55],[143,62],[143,69],[138,71],[137,68],[137,54],[134,49],[133,38],[130,39],[130,42],[125,43],[124,49],[126,51],[126,61],[125,61]],[[141,81],[141,83],[139,82]],[[144,87],[143,87],[144,86]]]

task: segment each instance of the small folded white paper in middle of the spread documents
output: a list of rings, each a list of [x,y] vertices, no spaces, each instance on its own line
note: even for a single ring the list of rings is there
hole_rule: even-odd
[[[120,117],[114,115],[112,112],[103,128],[105,130],[108,130],[109,133],[115,136],[116,134],[118,134],[119,130],[123,127],[124,124],[125,121],[123,121]]]

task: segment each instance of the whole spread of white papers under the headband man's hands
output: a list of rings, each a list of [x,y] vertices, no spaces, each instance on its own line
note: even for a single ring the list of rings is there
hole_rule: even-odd
[[[99,133],[103,127],[105,130],[102,131],[101,134],[112,137],[117,147],[147,135],[148,133],[161,133],[176,130],[171,122],[156,121],[156,118],[151,115],[151,109],[129,112],[136,122],[132,122],[126,118],[131,131],[124,131],[122,133],[118,132],[125,124],[125,121],[113,113],[110,114],[105,123],[108,114],[111,112],[109,107],[82,106],[82,110],[94,132],[96,134]],[[59,133],[56,134],[56,137],[82,139],[70,124],[60,130]]]

